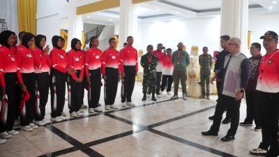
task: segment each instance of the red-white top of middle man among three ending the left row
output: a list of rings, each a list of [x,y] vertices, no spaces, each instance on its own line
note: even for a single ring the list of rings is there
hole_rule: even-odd
[[[116,68],[118,73],[121,73],[123,70],[123,65],[121,63],[120,52],[117,50],[112,50],[108,48],[103,52],[103,61],[102,61],[102,73],[105,73],[105,68]]]

